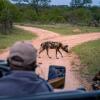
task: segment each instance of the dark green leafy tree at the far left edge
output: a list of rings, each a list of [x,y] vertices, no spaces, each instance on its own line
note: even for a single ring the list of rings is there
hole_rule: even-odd
[[[13,13],[11,9],[14,7],[8,0],[0,0],[0,29],[3,33],[7,33],[13,26]]]

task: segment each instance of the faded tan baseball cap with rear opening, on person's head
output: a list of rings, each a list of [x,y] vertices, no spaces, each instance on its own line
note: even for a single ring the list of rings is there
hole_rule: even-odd
[[[13,58],[19,57],[21,60]],[[11,48],[8,56],[9,62],[16,66],[26,67],[36,61],[37,50],[27,41],[16,42]]]

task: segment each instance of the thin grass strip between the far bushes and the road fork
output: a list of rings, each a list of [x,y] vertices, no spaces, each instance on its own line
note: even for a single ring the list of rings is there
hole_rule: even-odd
[[[81,33],[100,32],[100,27],[76,26],[70,24],[52,24],[52,25],[22,24],[22,25],[28,25],[46,29],[49,31],[57,32],[61,35],[76,35]]]

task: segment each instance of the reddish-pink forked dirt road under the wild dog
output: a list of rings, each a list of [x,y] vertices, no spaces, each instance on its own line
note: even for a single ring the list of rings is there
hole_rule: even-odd
[[[31,31],[35,33],[38,38],[35,40],[31,40],[32,44],[39,50],[40,44],[47,40],[53,40],[53,41],[60,41],[63,44],[68,44],[69,49],[71,47],[74,47],[78,44],[81,44],[83,42],[87,42],[90,40],[96,40],[100,38],[100,33],[92,33],[92,34],[80,34],[80,35],[71,35],[71,36],[61,36],[57,33],[42,30],[39,28],[33,28],[33,27],[25,27],[25,26],[18,26],[16,27],[22,28],[24,30]],[[1,59],[6,59],[8,55],[8,51],[0,54]],[[64,51],[62,51],[64,57],[62,58],[60,55],[59,59],[56,59],[55,57],[55,51],[50,50],[50,56],[52,59],[49,59],[46,55],[45,51],[41,54],[41,58],[37,58],[37,63],[39,67],[37,68],[37,73],[45,78],[47,80],[48,78],[48,68],[49,65],[63,65],[66,66],[66,79],[65,79],[65,88],[64,90],[73,90],[78,88],[81,85],[81,82],[76,77],[75,73],[73,72],[72,65],[71,65],[71,54],[67,54]],[[40,64],[42,63],[42,64]]]

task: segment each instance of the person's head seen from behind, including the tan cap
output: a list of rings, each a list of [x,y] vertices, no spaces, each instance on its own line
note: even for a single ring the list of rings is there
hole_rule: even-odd
[[[8,63],[12,70],[33,70],[35,71],[37,50],[30,42],[16,42],[11,48],[8,56]]]

